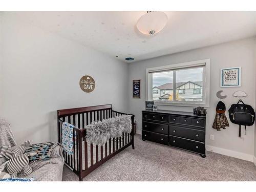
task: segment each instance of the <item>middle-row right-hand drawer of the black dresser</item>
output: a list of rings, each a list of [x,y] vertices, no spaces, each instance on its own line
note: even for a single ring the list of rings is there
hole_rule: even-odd
[[[181,126],[169,125],[169,135],[177,137],[184,137],[186,139],[192,139],[196,141],[205,141],[205,132],[201,130],[189,129]]]

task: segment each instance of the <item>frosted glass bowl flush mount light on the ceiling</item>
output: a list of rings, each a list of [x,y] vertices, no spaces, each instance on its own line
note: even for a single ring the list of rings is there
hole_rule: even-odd
[[[147,11],[142,15],[137,24],[137,29],[146,35],[154,35],[160,32],[166,25],[167,15],[161,11]]]

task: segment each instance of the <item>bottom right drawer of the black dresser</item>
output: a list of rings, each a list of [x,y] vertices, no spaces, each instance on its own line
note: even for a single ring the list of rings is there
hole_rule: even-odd
[[[169,145],[205,155],[205,144],[175,136],[169,136]]]

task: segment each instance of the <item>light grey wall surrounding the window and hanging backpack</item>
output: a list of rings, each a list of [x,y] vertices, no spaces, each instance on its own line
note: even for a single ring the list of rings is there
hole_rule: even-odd
[[[134,62],[129,65],[129,90],[132,89],[132,80],[142,80],[142,95],[141,99],[130,100],[130,112],[135,114],[137,120],[138,132],[141,131],[142,113],[141,110],[145,109],[145,69],[157,66],[170,65],[174,63],[195,61],[201,59],[210,59],[210,108],[207,109],[207,123],[206,123],[206,144],[213,146],[214,150],[221,150],[224,153],[236,152],[237,156],[244,156],[246,160],[252,161],[254,154],[254,126],[247,127],[246,136],[238,137],[238,125],[230,122],[230,126],[226,130],[220,132],[211,128],[216,113],[216,105],[219,99],[216,97],[216,92],[223,90],[223,95],[227,98],[223,100],[226,104],[227,111],[232,103],[236,103],[238,98],[233,97],[234,91],[243,90],[248,96],[243,98],[247,104],[255,106],[255,48],[256,39],[248,38],[239,41],[232,41],[221,45],[205,47],[185,51],[181,53],[161,56],[153,59]],[[220,88],[220,69],[228,67],[242,67],[242,87],[240,88]],[[159,109],[189,111],[191,108],[166,106],[159,107]],[[228,112],[226,112],[228,118]],[[229,119],[229,118],[228,118]],[[209,135],[215,135],[215,140],[209,139]],[[218,148],[216,148],[218,147]],[[230,153],[232,153],[230,152]]]

